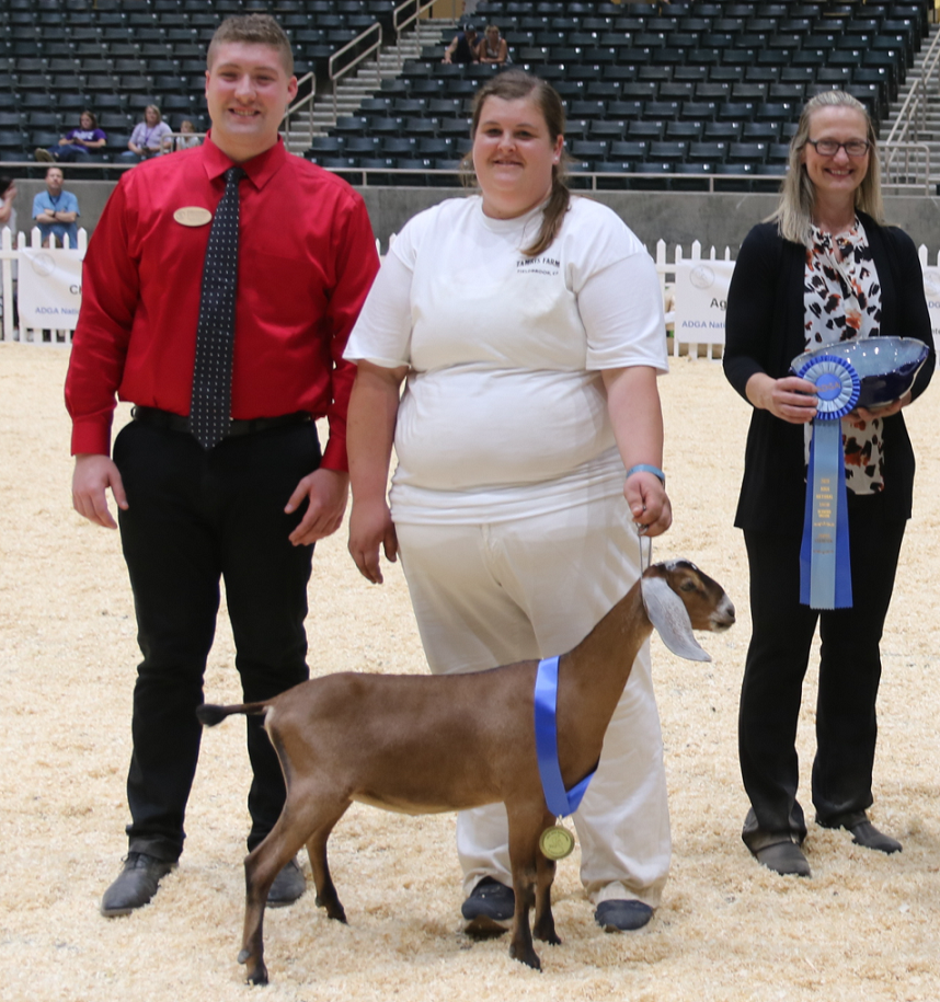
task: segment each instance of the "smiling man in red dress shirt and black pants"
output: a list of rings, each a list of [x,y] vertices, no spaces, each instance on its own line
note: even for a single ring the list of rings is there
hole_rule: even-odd
[[[307,678],[313,543],[340,527],[348,493],[345,417],[355,367],[343,348],[378,268],[362,198],[289,154],[278,137],[297,93],[278,24],[261,14],[225,21],[207,64],[205,143],[128,171],[95,229],[66,382],[74,507],[114,528],[106,492],[114,496],[144,655],[128,855],[102,900],[108,917],[146,905],[182,852],[220,578],[245,700]],[[226,437],[204,447],[188,418],[203,272],[234,165],[244,175],[234,180],[230,412]],[[115,395],[136,406],[111,458]],[[313,418],[324,416],[321,453]],[[257,718],[249,722],[248,746],[252,849],[280,813],[284,783]],[[268,901],[289,905],[303,886],[296,862],[288,864]]]

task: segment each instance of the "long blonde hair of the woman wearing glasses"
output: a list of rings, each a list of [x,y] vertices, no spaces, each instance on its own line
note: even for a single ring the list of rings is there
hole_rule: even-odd
[[[796,133],[790,140],[790,170],[780,191],[780,205],[769,221],[777,221],[777,228],[784,240],[812,245],[813,206],[816,188],[801,162],[803,150],[810,138],[810,119],[824,107],[850,107],[861,112],[866,120],[866,139],[870,143],[868,171],[862,183],[856,188],[856,208],[868,212],[875,222],[884,223],[884,203],[881,198],[881,164],[878,156],[878,137],[866,106],[845,91],[821,91],[811,97],[800,115]]]

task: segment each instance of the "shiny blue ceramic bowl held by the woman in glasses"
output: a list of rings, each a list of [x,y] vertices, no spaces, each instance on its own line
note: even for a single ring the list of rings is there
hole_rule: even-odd
[[[856,406],[876,411],[907,393],[929,354],[916,337],[859,337],[804,352],[790,364],[790,371],[799,376],[807,362],[823,355],[842,358],[861,382]]]

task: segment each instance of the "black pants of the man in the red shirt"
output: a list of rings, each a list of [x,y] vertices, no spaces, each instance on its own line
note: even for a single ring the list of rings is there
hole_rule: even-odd
[[[133,422],[114,460],[127,492],[121,539],[144,660],[134,690],[127,778],[130,850],[175,860],[196,771],[203,675],[213,645],[219,580],[247,702],[308,678],[307,583],[312,546],[287,537],[301,512],[284,506],[320,464],[312,423],[229,438],[205,451],[185,433]],[[277,756],[260,717],[248,718],[253,781],[249,849],[284,804]]]

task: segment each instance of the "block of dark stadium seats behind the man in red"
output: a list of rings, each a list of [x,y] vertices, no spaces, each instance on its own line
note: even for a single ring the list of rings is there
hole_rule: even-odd
[[[298,76],[325,61],[391,0],[4,0],[0,4],[0,160],[28,161],[78,124],[82,108],[107,134],[108,161],[158,105],[175,129],[206,116],[206,46],[229,14],[271,11],[294,44]],[[36,115],[45,115],[41,122]]]

